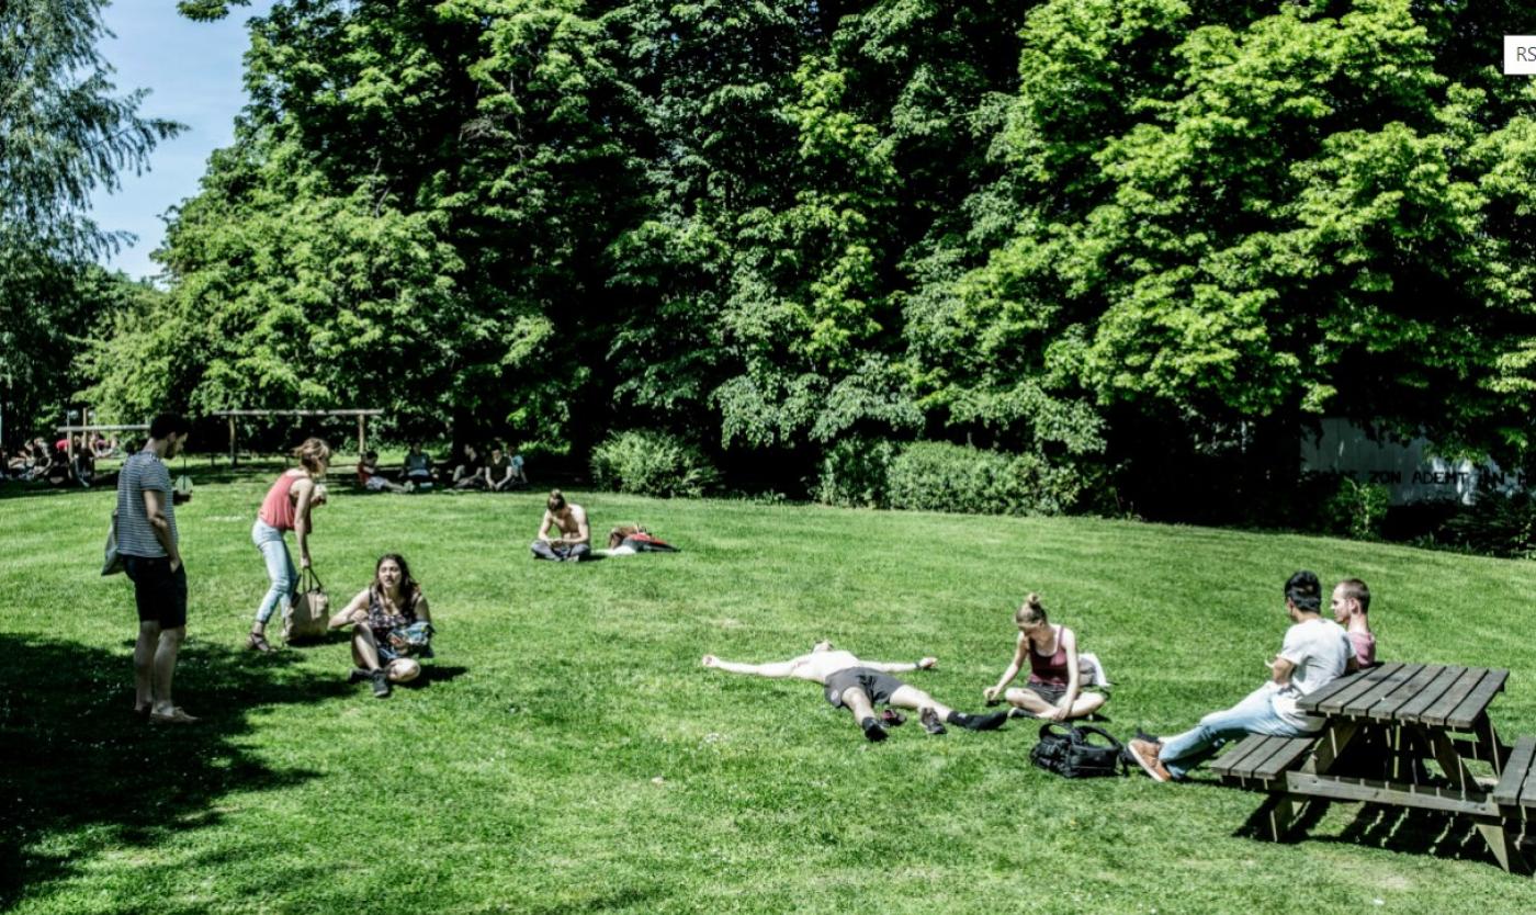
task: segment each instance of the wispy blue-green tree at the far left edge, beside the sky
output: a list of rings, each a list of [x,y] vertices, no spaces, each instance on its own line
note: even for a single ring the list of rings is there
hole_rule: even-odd
[[[101,6],[0,3],[0,408],[26,425],[71,393],[68,335],[103,304],[86,269],[121,241],[88,218],[91,193],[180,129],[138,115],[144,91],[117,94]]]

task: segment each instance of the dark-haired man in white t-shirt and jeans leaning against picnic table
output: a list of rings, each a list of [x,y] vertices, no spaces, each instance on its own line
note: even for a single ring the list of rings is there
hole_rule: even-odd
[[[1286,582],[1286,613],[1292,626],[1275,660],[1270,679],[1235,706],[1210,712],[1200,723],[1164,738],[1132,740],[1130,755],[1157,781],[1183,780],[1190,769],[1209,760],[1226,742],[1249,734],[1303,737],[1322,726],[1322,720],[1296,708],[1296,700],[1327,686],[1344,674],[1353,648],[1344,628],[1321,616],[1322,585],[1318,576],[1298,571]]]

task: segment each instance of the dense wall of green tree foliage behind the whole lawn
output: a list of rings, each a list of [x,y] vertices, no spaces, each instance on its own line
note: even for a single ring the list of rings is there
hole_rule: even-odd
[[[1536,84],[1493,64],[1522,28],[1508,2],[280,2],[170,295],[108,347],[183,352],[100,393],[578,451],[651,427],[728,470],[965,441],[1141,481],[1137,510],[1209,454],[1273,485],[1322,415],[1518,464]]]

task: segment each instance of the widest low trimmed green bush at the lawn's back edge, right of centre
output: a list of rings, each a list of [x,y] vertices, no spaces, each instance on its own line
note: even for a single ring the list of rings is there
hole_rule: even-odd
[[[977,514],[1060,514],[1081,493],[1071,467],[948,442],[914,442],[891,461],[891,508]]]

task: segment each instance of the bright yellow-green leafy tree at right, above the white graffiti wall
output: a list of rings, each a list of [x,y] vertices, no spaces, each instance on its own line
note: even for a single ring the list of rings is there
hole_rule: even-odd
[[[1468,69],[1488,21],[1425,17],[1407,0],[1038,8],[1001,135],[1011,238],[923,322],[962,344],[925,344],[945,396],[1012,372],[1021,393],[1080,390],[1190,434],[1330,413],[1524,447],[1536,324],[1505,278],[1530,264],[1510,220],[1528,206],[1510,180],[1530,175],[1528,86]]]

